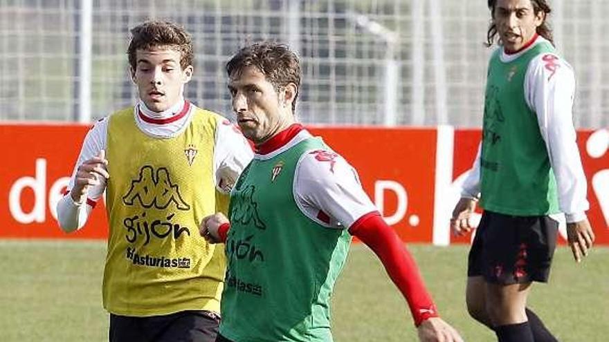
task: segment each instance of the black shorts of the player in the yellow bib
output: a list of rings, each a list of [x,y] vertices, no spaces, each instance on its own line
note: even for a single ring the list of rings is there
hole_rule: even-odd
[[[220,316],[208,311],[182,311],[163,316],[110,314],[110,342],[214,342]]]

